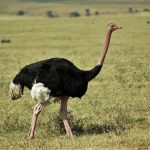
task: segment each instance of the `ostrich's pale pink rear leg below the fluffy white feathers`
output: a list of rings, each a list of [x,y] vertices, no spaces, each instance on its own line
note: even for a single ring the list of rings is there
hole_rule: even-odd
[[[40,103],[36,104],[34,109],[33,109],[31,127],[30,127],[30,130],[29,130],[29,139],[34,138],[36,121],[37,121],[38,115],[40,114],[41,110],[42,110],[42,105]]]

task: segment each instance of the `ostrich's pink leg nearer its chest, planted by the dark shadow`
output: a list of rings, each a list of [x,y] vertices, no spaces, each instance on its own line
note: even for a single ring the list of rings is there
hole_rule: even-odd
[[[72,137],[72,131],[71,131],[68,119],[67,119],[67,102],[68,102],[68,98],[69,97],[65,97],[65,96],[61,97],[61,106],[60,106],[60,112],[59,113],[60,113],[60,116],[63,119],[63,123],[64,123],[65,129],[66,129],[67,135]]]

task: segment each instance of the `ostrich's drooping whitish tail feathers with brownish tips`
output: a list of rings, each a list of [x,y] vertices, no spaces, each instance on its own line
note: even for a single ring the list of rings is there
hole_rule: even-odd
[[[23,86],[20,84],[15,84],[11,81],[9,86],[9,95],[12,100],[16,100],[23,95]]]

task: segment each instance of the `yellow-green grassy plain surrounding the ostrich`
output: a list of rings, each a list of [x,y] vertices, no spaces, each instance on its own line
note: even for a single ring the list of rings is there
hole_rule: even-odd
[[[123,8],[113,6],[114,11]],[[137,6],[142,10],[147,4]],[[11,40],[0,43],[0,149],[150,149],[149,12],[54,19],[9,13],[0,16],[0,40]],[[66,137],[59,103],[52,103],[38,118],[35,139],[28,140],[35,103],[27,89],[20,100],[11,101],[10,80],[24,65],[51,57],[65,57],[81,69],[92,68],[109,22],[123,29],[113,33],[100,75],[90,82],[82,99],[69,100],[74,138]]]

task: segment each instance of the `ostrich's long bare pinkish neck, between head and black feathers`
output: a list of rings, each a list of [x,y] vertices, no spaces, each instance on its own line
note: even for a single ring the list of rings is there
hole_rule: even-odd
[[[104,46],[103,46],[101,55],[100,55],[99,60],[98,60],[98,65],[103,65],[103,63],[104,63],[105,56],[107,54],[107,50],[108,50],[109,43],[110,43],[111,33],[112,32],[109,30],[106,32],[106,36],[105,36],[105,40],[104,40]]]

